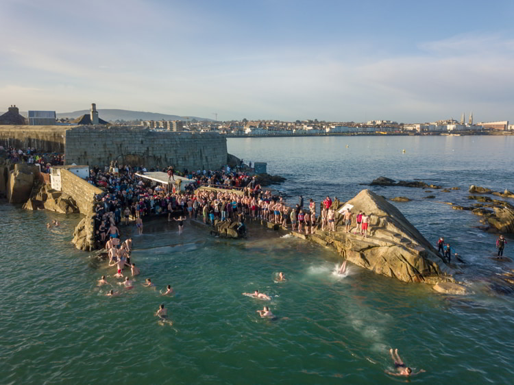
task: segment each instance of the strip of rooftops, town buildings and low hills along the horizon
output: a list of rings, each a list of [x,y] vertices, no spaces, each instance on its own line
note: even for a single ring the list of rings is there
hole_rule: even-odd
[[[141,128],[167,130],[172,132],[218,132],[229,136],[302,136],[302,135],[331,135],[331,134],[465,134],[466,132],[502,132],[514,131],[509,121],[495,121],[474,124],[473,112],[465,123],[465,114],[461,120],[453,118],[425,123],[397,123],[390,120],[371,120],[365,123],[356,122],[327,122],[314,120],[279,121],[258,120],[249,121],[212,121],[184,118],[186,121],[135,121],[117,120],[112,123],[100,119],[96,104],[92,103],[89,114],[79,116],[75,120],[68,118],[57,119],[55,111],[28,112],[28,119],[19,113],[16,105],[11,105],[8,112],[0,116],[0,125],[128,125]]]

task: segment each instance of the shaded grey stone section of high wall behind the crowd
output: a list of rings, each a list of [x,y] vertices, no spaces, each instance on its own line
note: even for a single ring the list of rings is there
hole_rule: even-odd
[[[227,162],[225,136],[156,132],[140,127],[74,127],[66,131],[66,164],[119,164],[175,169],[219,169]]]

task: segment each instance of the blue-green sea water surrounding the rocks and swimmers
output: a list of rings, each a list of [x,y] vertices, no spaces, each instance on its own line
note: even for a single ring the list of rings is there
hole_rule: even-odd
[[[413,383],[514,383],[514,294],[497,275],[514,266],[489,259],[496,236],[476,228],[478,216],[442,203],[472,204],[470,184],[514,190],[514,137],[236,138],[228,150],[286,177],[278,189],[291,204],[300,193],[344,201],[380,175],[460,187],[372,189],[413,199],[395,206],[426,238],[445,236],[463,256],[458,279],[474,294],[443,296],[357,266],[339,277],[332,250],[252,224],[247,240],[223,240],[189,223],[179,235],[175,223],[153,221],[134,236],[136,287],[110,298],[96,282],[105,274],[121,290],[114,270],[70,243],[78,215],[2,203],[0,383],[404,382],[384,373],[393,369],[390,347],[427,371]],[[54,218],[62,226],[46,229]],[[279,271],[287,282],[274,282]],[[141,286],[145,277],[157,290]],[[167,284],[173,297],[160,296]],[[271,301],[241,295],[255,289]],[[160,303],[173,325],[156,321]],[[265,305],[278,321],[258,317]]]

